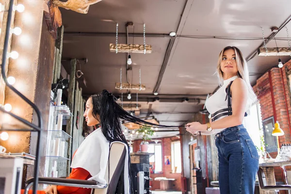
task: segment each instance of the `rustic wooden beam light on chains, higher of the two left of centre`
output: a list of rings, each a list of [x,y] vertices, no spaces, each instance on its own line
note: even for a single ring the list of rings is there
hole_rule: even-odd
[[[110,52],[116,52],[116,44],[109,44]],[[145,45],[127,45],[117,44],[118,52],[132,52],[132,53],[144,53]],[[149,54],[152,51],[151,45],[146,45],[146,53]]]

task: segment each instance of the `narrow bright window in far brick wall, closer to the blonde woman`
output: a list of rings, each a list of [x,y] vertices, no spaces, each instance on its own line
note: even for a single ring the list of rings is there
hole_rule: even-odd
[[[181,144],[180,142],[172,142],[172,172],[181,173],[182,164],[181,164]]]

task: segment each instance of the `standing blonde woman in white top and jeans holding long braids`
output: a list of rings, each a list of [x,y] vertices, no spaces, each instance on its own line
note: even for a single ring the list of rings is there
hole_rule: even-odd
[[[238,48],[226,47],[220,52],[217,75],[221,87],[206,101],[210,123],[188,123],[186,129],[193,134],[216,134],[220,194],[253,194],[259,155],[242,120],[257,97]]]

